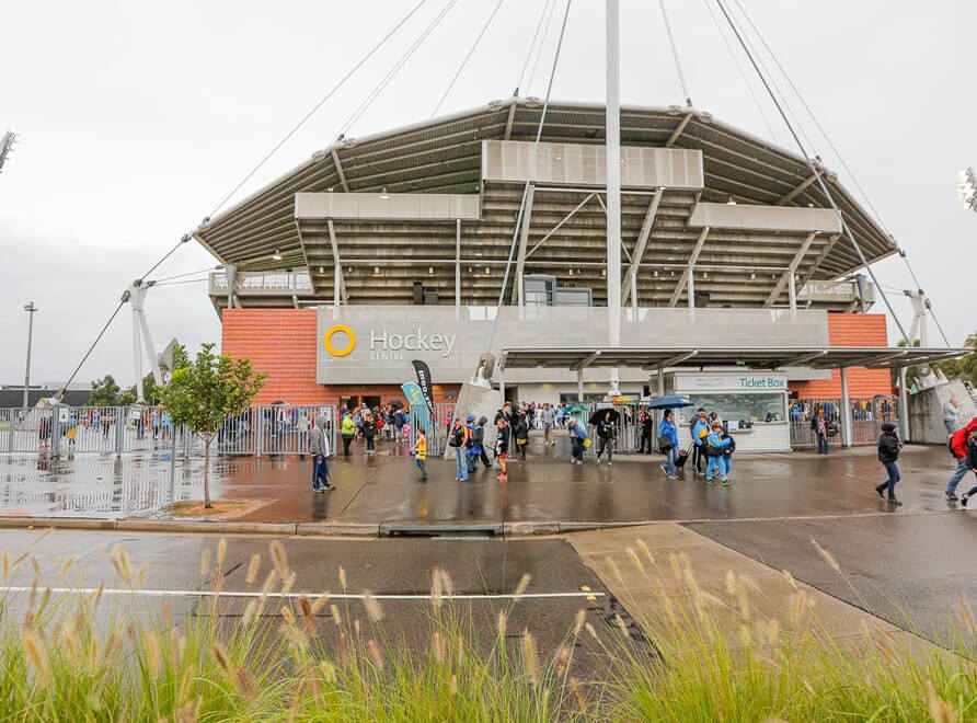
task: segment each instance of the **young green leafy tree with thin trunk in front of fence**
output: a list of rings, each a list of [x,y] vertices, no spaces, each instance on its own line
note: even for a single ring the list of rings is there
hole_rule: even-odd
[[[176,366],[176,365],[174,365]],[[163,406],[174,425],[186,427],[204,440],[204,507],[210,503],[210,443],[227,415],[241,414],[264,386],[267,375],[257,374],[251,359],[214,354],[214,344],[204,344],[197,358],[174,369],[170,382],[160,390]]]

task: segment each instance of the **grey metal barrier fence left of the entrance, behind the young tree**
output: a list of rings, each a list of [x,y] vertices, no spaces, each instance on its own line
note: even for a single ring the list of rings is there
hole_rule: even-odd
[[[336,409],[251,406],[229,415],[211,451],[219,455],[296,455],[309,448],[309,433],[319,415],[326,417],[331,449],[336,448]],[[0,410],[0,454],[85,455],[129,452],[203,454],[204,443],[174,425],[165,410],[153,406],[47,406]]]

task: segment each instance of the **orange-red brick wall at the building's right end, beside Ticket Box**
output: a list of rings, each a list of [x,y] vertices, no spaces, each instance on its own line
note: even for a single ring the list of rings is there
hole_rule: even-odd
[[[828,343],[831,346],[888,346],[885,314],[829,313]],[[830,379],[792,381],[788,387],[802,399],[841,397],[841,372],[834,369]],[[848,393],[851,397],[892,394],[888,369],[852,367],[848,370]]]

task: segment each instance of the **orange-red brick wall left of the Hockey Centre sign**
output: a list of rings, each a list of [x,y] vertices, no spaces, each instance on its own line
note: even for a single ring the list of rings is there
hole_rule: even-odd
[[[338,404],[342,397],[403,400],[398,385],[319,385],[315,382],[314,309],[225,309],[221,351],[251,359],[268,375],[255,404],[278,400],[292,404]],[[409,381],[409,379],[404,379]],[[459,385],[434,385],[435,402],[452,401]],[[457,397],[456,397],[457,398]]]

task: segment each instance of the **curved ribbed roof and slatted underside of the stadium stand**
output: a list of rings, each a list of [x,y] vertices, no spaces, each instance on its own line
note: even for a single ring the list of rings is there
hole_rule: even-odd
[[[515,195],[516,207],[512,208],[516,188],[505,188],[504,184],[494,184],[492,188],[486,184],[483,187],[482,142],[531,140],[541,110],[541,104],[535,99],[512,99],[358,139],[341,139],[313,153],[308,161],[217,218],[203,223],[195,238],[221,262],[234,263],[242,271],[308,267],[313,271],[312,280],[317,292],[324,295],[326,288],[331,287],[332,273],[329,271],[317,276],[314,269],[331,264],[332,256],[323,252],[322,248],[310,250],[309,244],[303,243],[295,217],[297,193],[332,191],[482,194],[482,226],[485,228],[479,229],[478,234],[484,248],[481,250],[483,253],[476,255],[484,255],[486,262],[504,261],[518,208],[518,195]],[[602,105],[552,103],[547,113],[542,140],[602,145],[604,134]],[[670,296],[670,289],[664,280],[662,284],[651,283],[651,265],[655,262],[663,267],[668,265],[667,262],[680,264],[692,255],[698,229],[690,228],[689,220],[699,202],[727,203],[733,199],[737,204],[747,205],[829,207],[803,158],[721,123],[709,113],[680,106],[623,106],[621,142],[624,146],[698,149],[702,152],[704,188],[694,193],[676,191],[665,194],[659,210],[660,220],[656,221],[651,233],[645,256],[650,262],[647,278],[640,282],[640,286],[646,289],[642,291],[645,298],[651,294],[660,301]],[[894,240],[841,187],[837,177],[819,164],[817,169],[869,262],[895,253],[897,246]],[[531,242],[541,238],[581,200],[579,196],[566,198],[566,195],[543,192],[543,195],[538,196],[543,216],[533,217],[535,238]],[[624,191],[622,238],[629,254],[635,248],[647,198],[647,195],[629,193],[627,188]],[[599,297],[599,262],[604,254],[599,244],[586,245],[581,240],[585,230],[593,233],[595,226],[600,222],[599,216],[602,216],[602,211],[596,203],[577,214],[572,222],[561,228],[560,233],[547,241],[548,245],[536,255],[536,266],[528,267],[527,273],[559,275],[555,267],[562,266],[565,269],[568,259],[590,262],[593,268],[577,268],[573,280],[581,285],[589,283],[595,288],[595,298]],[[427,225],[423,233],[416,232],[417,237],[423,236],[422,239],[405,236],[402,226],[375,229],[369,242],[360,241],[356,245],[358,233],[361,233],[361,229],[355,225],[346,225],[336,231],[341,246],[344,241],[349,243],[350,239],[354,243],[342,250],[343,259],[368,261],[373,255],[390,255],[391,242],[384,244],[382,237],[378,236],[389,233],[387,238],[401,241],[396,244],[401,248],[404,239],[416,240],[421,245],[413,255],[417,259],[438,261],[444,255],[445,260],[455,260],[453,223],[450,228],[445,225],[440,230],[434,225]],[[747,236],[719,233],[715,238],[711,237],[710,245],[703,250],[701,260],[705,265],[739,263],[742,268],[752,265],[782,271],[791,263],[805,236],[806,233],[791,236],[779,232],[754,232]],[[428,246],[424,246],[424,242]],[[280,260],[273,259],[273,255],[280,256]],[[552,267],[543,267],[547,261],[552,262]],[[427,274],[427,261],[418,264],[423,265],[423,273]],[[366,264],[360,265],[366,267]],[[832,279],[861,266],[858,253],[846,238],[840,234],[821,234],[814,246],[809,248],[805,263],[797,267],[797,273],[805,278]],[[441,277],[440,269],[435,272],[432,267],[430,274],[437,276],[437,279],[430,280],[450,287],[455,272],[449,268],[445,272]],[[387,274],[384,271],[384,275]],[[391,289],[390,298],[393,300],[398,298],[398,288],[417,277],[417,269],[393,269],[389,274],[387,280]],[[570,274],[573,275],[573,271]],[[364,277],[359,279],[361,285],[357,286],[356,276],[354,272],[352,278],[344,279],[344,286],[350,289],[350,299],[359,300],[356,298],[357,289],[361,288],[364,292],[369,290],[370,300],[382,300],[373,292],[376,278]],[[727,300],[762,300],[774,287],[777,276],[766,276],[757,283],[751,296],[739,299],[736,296],[737,288],[747,277],[731,275],[726,279],[729,290]],[[754,276],[748,278],[752,279]],[[716,284],[722,282],[720,277],[715,278]],[[464,292],[465,301],[479,302],[480,299],[491,298],[493,294],[497,295],[498,284],[499,279],[472,280],[471,287]],[[673,279],[671,286],[675,285],[676,279]],[[406,286],[409,295],[410,284]],[[697,283],[697,289],[709,290],[708,286]],[[725,298],[721,289],[713,297]]]

